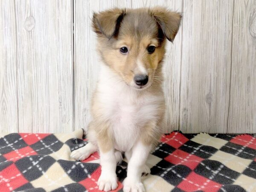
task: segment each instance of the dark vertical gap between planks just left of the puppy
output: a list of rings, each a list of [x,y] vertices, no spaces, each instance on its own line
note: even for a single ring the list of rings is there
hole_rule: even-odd
[[[73,114],[72,114],[72,117],[73,117],[73,122],[72,122],[72,130],[75,131],[75,1],[72,0],[72,27],[71,27],[71,31],[72,31],[72,40],[73,40],[73,43],[72,43],[72,46],[73,46],[73,52],[72,52],[72,67],[73,67],[73,77],[72,77],[72,80],[73,80],[73,88],[72,88],[72,93],[73,93]]]

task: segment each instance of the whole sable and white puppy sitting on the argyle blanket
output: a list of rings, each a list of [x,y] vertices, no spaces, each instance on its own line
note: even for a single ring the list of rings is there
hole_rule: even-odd
[[[181,15],[162,7],[111,9],[93,15],[103,65],[93,96],[89,143],[72,152],[84,160],[99,149],[100,190],[117,187],[116,162],[128,160],[125,192],[145,191],[142,172],[162,133],[165,101],[162,60],[166,39],[173,41]]]

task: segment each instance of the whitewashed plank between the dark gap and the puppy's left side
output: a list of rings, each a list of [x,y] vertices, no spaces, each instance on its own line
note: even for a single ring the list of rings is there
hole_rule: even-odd
[[[86,128],[90,122],[90,101],[99,73],[96,35],[91,30],[94,12],[113,7],[131,7],[128,0],[76,0],[75,24],[75,128]]]

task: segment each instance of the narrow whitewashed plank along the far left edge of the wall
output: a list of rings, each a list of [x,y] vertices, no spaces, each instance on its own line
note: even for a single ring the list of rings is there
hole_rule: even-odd
[[[0,1],[0,132],[18,131],[14,1]]]

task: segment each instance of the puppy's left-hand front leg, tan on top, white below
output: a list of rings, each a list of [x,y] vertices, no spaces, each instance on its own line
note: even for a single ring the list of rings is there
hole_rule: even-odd
[[[99,140],[99,153],[100,164],[102,166],[102,172],[98,180],[99,190],[106,192],[116,189],[117,177],[116,177],[116,157],[114,153],[113,144],[110,140]]]

